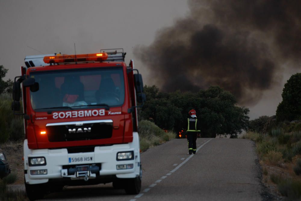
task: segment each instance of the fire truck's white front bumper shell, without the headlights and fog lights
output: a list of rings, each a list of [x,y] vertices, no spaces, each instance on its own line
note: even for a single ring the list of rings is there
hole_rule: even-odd
[[[138,134],[137,134],[138,136]],[[136,141],[136,142],[135,142]],[[27,140],[24,141],[27,146]],[[68,153],[67,149],[25,149],[24,148],[24,170],[27,184],[42,184],[49,180],[89,180],[107,176],[114,178],[135,178],[140,174],[140,147],[139,138],[132,143],[116,144],[112,146],[95,146],[94,152]],[[118,152],[134,152],[131,160],[117,161]],[[29,166],[29,157],[45,157],[46,164],[39,166]],[[92,158],[85,161],[85,158]],[[78,162],[72,159],[80,159]],[[81,160],[82,159],[82,160]],[[118,170],[117,165],[133,164],[131,169]],[[70,174],[70,168],[82,165],[97,165],[99,171],[75,172]],[[47,170],[47,174],[33,175],[34,170]],[[107,181],[107,180],[106,180]],[[100,182],[101,183],[101,182]]]

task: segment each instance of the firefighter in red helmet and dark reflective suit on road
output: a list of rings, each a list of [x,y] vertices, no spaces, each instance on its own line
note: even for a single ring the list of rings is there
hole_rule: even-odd
[[[189,118],[185,121],[185,130],[187,130],[187,141],[189,154],[195,154],[197,151],[197,134],[200,132],[199,122],[197,121],[197,113],[194,109],[190,110]]]

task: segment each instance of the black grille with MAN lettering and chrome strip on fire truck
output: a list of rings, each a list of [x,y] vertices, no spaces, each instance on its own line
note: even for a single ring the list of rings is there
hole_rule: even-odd
[[[112,137],[112,120],[73,121],[46,124],[49,142],[97,140]]]

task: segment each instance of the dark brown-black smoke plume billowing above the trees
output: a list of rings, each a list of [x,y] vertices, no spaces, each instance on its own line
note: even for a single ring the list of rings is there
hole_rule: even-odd
[[[188,3],[187,17],[161,29],[150,46],[134,51],[163,91],[219,85],[240,104],[250,105],[281,81],[284,64],[299,67],[301,1]]]

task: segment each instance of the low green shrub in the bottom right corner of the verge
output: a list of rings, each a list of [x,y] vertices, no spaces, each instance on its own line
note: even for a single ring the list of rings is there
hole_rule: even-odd
[[[278,190],[283,196],[287,196],[290,200],[301,198],[301,182],[290,178],[283,179],[278,184]]]

